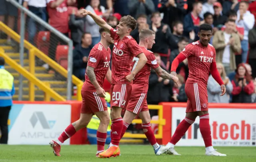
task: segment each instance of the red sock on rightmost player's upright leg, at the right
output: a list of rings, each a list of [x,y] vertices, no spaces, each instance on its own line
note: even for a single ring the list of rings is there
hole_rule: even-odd
[[[199,129],[204,139],[205,147],[212,146],[212,135],[209,123],[209,114],[200,116]]]

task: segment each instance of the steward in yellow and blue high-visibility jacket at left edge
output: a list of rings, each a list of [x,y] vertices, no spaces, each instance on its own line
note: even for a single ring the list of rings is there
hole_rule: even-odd
[[[8,117],[12,107],[12,96],[15,93],[14,78],[4,69],[4,58],[0,57],[0,144],[8,142]]]

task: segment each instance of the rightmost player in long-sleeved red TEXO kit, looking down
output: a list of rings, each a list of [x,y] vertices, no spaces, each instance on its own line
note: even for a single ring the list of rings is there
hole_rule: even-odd
[[[199,27],[199,41],[188,44],[182,52],[174,59],[171,67],[171,74],[176,76],[178,64],[188,58],[188,80],[185,85],[185,92],[188,96],[186,117],[176,128],[170,142],[166,145],[170,149],[166,154],[180,155],[174,150],[174,145],[184,136],[197,116],[200,117],[199,129],[204,139],[206,155],[226,156],[214,150],[212,146],[212,136],[209,124],[207,81],[209,72],[220,84],[222,95],[226,93],[226,87],[216,68],[216,51],[209,44],[212,37],[212,26],[202,24]]]

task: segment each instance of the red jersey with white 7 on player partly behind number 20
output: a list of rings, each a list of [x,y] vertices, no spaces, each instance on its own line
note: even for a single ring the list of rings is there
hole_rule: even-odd
[[[150,76],[150,70],[151,68],[155,69],[158,68],[159,65],[156,62],[156,57],[153,52],[150,50],[147,50],[145,47],[140,47],[142,52],[145,54],[146,58],[148,59],[148,62],[143,66],[143,68],[136,74],[133,80],[133,86],[136,84],[136,86],[140,86],[140,90],[143,91],[142,93],[148,92],[148,78]],[[139,58],[134,57],[133,58],[133,66],[132,70],[136,67],[138,63]]]

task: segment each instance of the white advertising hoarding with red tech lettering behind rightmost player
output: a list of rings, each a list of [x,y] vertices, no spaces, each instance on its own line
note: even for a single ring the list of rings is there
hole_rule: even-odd
[[[186,116],[186,108],[172,107],[172,135]],[[209,108],[213,146],[256,146],[256,109]],[[204,146],[199,117],[177,146]]]

